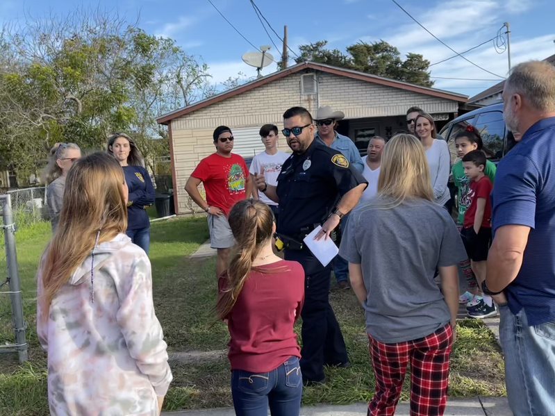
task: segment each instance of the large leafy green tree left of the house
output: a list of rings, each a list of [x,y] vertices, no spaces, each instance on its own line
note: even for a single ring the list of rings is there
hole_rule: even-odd
[[[156,117],[203,98],[210,75],[174,40],[117,15],[73,13],[0,31],[0,163],[38,173],[55,142],[103,149],[126,131],[151,167],[167,154]]]

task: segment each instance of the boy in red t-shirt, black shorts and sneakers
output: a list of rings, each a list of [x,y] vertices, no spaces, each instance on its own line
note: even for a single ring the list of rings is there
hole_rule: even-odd
[[[484,174],[486,155],[480,150],[473,150],[463,156],[463,167],[470,181],[470,206],[468,206],[461,237],[470,258],[472,271],[481,287],[486,280],[486,260],[491,244],[491,203],[490,194],[493,185]],[[497,310],[490,296],[484,294],[476,306],[468,309],[471,318],[486,318],[497,315]]]

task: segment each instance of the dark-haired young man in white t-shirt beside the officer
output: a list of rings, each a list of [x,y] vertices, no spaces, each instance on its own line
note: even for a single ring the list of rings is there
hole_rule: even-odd
[[[290,155],[277,149],[277,126],[274,124],[264,124],[264,126],[260,128],[259,134],[266,149],[262,153],[258,153],[258,155],[254,156],[249,172],[254,175],[263,173],[268,185],[277,186],[277,177],[279,172],[281,172],[281,165],[283,165],[283,162],[285,162]],[[279,213],[278,204],[268,198],[263,192],[258,192],[258,190],[254,190],[252,194],[255,199],[260,199],[260,201],[270,206],[277,222]]]

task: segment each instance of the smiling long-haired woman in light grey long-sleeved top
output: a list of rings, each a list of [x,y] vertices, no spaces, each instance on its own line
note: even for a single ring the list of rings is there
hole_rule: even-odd
[[[436,124],[431,115],[427,113],[417,115],[415,133],[420,138],[424,151],[426,151],[426,158],[428,158],[434,200],[447,208],[445,204],[451,199],[449,188],[447,188],[449,172],[451,172],[451,156],[449,156],[447,142],[436,139],[438,135]]]

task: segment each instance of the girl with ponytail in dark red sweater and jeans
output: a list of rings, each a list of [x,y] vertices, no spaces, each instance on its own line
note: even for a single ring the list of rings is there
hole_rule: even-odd
[[[304,300],[304,270],[272,249],[272,211],[255,199],[231,208],[235,251],[219,277],[217,315],[229,328],[231,392],[238,416],[299,415],[300,348],[293,331]]]

